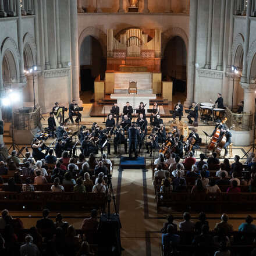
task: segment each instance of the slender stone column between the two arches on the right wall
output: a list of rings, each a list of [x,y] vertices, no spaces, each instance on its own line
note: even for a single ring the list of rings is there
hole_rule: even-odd
[[[247,12],[246,12],[246,36],[244,38],[244,59],[243,59],[243,72],[241,76],[241,83],[247,83],[247,53],[249,49],[250,41],[250,15],[251,15],[251,0],[247,0]]]

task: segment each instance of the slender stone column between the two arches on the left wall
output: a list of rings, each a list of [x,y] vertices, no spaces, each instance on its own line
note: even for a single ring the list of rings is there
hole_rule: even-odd
[[[26,77],[24,76],[24,58],[23,58],[23,31],[22,31],[22,10],[20,8],[20,0],[16,0],[17,8],[17,37],[20,52],[20,82],[25,82]]]

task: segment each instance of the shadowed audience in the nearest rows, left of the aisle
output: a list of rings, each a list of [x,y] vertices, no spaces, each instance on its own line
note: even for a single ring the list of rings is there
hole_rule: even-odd
[[[8,210],[1,212],[0,255],[1,256],[88,256],[97,253],[98,217],[97,210],[90,218],[81,222],[80,229],[63,221],[57,214],[55,222],[49,218],[49,210],[42,211],[42,218],[35,226],[24,229],[19,218],[10,216]]]

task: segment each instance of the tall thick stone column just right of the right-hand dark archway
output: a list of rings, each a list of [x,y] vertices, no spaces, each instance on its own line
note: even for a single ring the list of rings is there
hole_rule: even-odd
[[[187,99],[184,106],[190,106],[194,98],[195,82],[195,46],[197,39],[197,0],[190,1],[190,19],[189,19],[189,55],[187,69]]]

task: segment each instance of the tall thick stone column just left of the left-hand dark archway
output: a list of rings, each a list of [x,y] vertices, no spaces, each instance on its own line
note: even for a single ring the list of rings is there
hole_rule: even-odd
[[[77,34],[77,1],[70,1],[70,40],[72,61],[72,99],[81,104],[79,97],[79,49]]]

